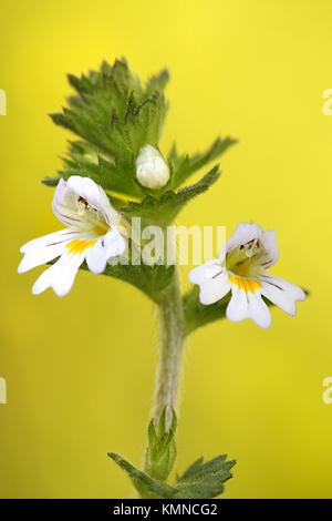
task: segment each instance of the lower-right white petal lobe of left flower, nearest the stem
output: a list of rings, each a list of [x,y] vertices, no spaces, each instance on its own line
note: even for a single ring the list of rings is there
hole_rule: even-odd
[[[126,249],[126,242],[114,226],[104,237],[86,251],[86,263],[93,273],[103,273],[108,258],[122,255]]]

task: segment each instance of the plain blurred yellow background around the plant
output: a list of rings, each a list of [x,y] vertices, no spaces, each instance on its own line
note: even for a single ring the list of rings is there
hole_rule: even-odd
[[[238,460],[227,498],[331,497],[332,86],[329,0],[1,0],[1,497],[129,497],[106,457],[138,463],[152,405],[156,316],[118,280],[80,273],[71,294],[32,297],[42,268],[17,275],[19,246],[59,229],[52,190],[69,137],[46,118],[66,72],[126,55],[143,78],[167,65],[162,150],[240,140],[224,176],[181,224],[253,219],[278,231],[274,272],[309,287],[298,318],[220,321],[186,350],[177,469],[200,454]]]

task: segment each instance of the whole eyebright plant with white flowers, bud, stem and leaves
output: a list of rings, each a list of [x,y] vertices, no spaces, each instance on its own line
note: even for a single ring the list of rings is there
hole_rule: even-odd
[[[74,95],[51,118],[75,137],[62,170],[43,180],[56,187],[52,208],[65,227],[27,243],[19,272],[51,264],[33,294],[51,287],[64,296],[81,268],[127,282],[155,303],[160,356],[145,462],[136,468],[115,452],[108,456],[128,474],[141,498],[208,499],[219,496],[232,477],[235,461],[226,454],[206,462],[199,458],[169,482],[177,453],[175,409],[184,340],[225,317],[251,318],[269,327],[269,304],[294,315],[295,302],[305,294],[268,273],[278,259],[276,233],[257,224],[239,224],[217,258],[190,272],[194,286],[184,295],[176,265],[117,262],[125,252],[129,259],[137,254],[131,219],[139,217],[143,226],[159,226],[166,234],[181,208],[216,183],[220,173],[212,166],[189,184],[191,175],[236,143],[232,137],[217,137],[193,156],[179,154],[174,144],[164,155],[158,145],[168,110],[167,81],[167,71],[162,71],[143,84],[125,60],[104,62],[81,78],[69,75]]]

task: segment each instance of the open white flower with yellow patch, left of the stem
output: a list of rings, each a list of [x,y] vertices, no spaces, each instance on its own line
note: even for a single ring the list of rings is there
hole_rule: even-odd
[[[60,180],[52,208],[68,227],[24,244],[18,270],[24,273],[60,257],[37,279],[32,293],[38,295],[52,287],[56,295],[64,296],[85,259],[91,272],[102,273],[110,257],[124,253],[126,242],[117,226],[120,214],[103,188],[89,177]]]

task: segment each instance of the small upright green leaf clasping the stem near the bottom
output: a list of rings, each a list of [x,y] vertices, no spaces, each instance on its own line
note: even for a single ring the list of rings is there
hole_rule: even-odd
[[[160,481],[166,481],[176,459],[176,415],[172,411],[172,425],[166,428],[166,407],[163,410],[157,429],[154,420],[148,426],[145,471]]]

